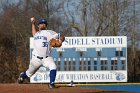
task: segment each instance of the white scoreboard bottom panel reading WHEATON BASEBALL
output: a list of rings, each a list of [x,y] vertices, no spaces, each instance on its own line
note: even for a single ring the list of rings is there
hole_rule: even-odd
[[[49,72],[35,73],[32,83],[48,83]],[[127,82],[126,71],[58,71],[55,82]]]

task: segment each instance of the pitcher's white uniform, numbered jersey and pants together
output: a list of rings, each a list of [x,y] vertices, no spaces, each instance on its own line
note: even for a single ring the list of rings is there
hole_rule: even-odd
[[[41,30],[35,33],[32,60],[26,71],[28,77],[31,77],[40,66],[48,67],[50,70],[56,69],[56,64],[53,58],[50,57],[51,47],[49,41],[52,38],[58,38],[58,35],[52,30]]]

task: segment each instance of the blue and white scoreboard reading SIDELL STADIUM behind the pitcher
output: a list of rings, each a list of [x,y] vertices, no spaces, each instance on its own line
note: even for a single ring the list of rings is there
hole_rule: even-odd
[[[33,38],[30,38],[30,55]],[[66,37],[51,52],[57,64],[56,82],[127,82],[127,37]],[[30,56],[31,58],[31,56]],[[41,67],[31,83],[48,83],[49,71]]]

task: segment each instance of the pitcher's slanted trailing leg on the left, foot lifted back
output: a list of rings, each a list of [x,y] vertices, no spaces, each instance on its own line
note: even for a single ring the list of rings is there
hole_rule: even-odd
[[[31,60],[29,68],[20,74],[18,83],[23,83],[26,78],[31,77],[38,70],[38,68],[42,65],[39,61],[40,60],[36,58]]]

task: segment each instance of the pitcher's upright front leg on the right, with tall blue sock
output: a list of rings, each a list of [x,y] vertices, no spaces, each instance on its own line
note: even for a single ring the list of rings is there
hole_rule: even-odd
[[[50,84],[49,84],[49,88],[55,88],[55,78],[56,78],[56,64],[53,60],[52,57],[47,57],[44,59],[44,64],[45,67],[48,67],[50,70]]]

